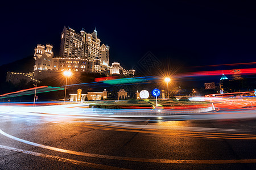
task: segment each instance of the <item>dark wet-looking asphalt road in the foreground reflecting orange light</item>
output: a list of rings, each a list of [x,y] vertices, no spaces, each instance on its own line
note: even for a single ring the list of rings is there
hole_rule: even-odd
[[[256,168],[254,117],[102,118],[38,108],[0,108],[0,169]]]

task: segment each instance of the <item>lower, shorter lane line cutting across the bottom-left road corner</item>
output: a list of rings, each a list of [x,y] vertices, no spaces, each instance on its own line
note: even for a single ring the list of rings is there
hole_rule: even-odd
[[[124,169],[124,168],[112,167],[112,166],[109,166],[109,165],[95,164],[95,163],[89,163],[89,162],[82,162],[80,160],[67,159],[67,158],[63,158],[63,157],[60,157],[60,156],[42,154],[42,153],[39,153],[39,152],[32,152],[32,151],[27,151],[27,150],[21,150],[19,148],[14,148],[14,147],[9,147],[9,146],[0,145],[0,148],[6,149],[6,150],[20,152],[20,153],[23,153],[23,154],[40,156],[42,158],[56,160],[56,161],[59,161],[59,162],[65,162],[65,163],[71,163],[71,164],[76,164],[76,165],[82,165],[82,166],[85,166],[85,167],[91,167],[91,168],[97,168],[97,169]]]

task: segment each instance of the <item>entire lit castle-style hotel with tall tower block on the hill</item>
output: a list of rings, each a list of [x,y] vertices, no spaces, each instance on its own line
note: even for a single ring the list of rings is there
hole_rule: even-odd
[[[80,33],[72,28],[64,27],[61,33],[60,57],[54,57],[53,46],[50,44],[38,45],[35,48],[34,71],[78,71],[86,73],[131,74],[135,70],[125,70],[118,62],[109,66],[109,46],[102,44],[97,37],[97,31],[86,33],[84,29]]]

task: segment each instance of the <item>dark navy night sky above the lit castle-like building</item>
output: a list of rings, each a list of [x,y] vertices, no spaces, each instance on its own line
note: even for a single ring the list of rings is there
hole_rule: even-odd
[[[64,25],[96,27],[110,62],[125,69],[148,51],[183,66],[255,62],[256,10],[246,1],[9,1],[0,8],[0,65],[33,55],[37,44],[58,54]]]

